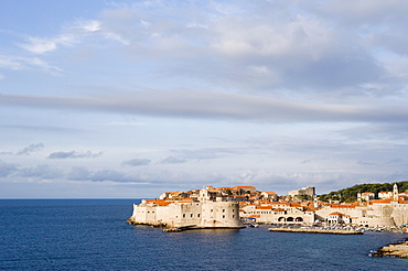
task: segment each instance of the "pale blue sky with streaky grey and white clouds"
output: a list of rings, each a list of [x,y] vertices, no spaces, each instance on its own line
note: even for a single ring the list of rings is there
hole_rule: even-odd
[[[0,2],[0,198],[408,178],[404,0]]]

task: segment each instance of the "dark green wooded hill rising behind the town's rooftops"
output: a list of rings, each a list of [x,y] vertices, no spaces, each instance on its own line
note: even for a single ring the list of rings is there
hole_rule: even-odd
[[[399,192],[408,191],[408,181],[396,182]],[[378,192],[393,191],[395,183],[384,183],[384,184],[356,184],[352,187],[330,192],[329,194],[323,194],[319,196],[319,200],[329,202],[341,200],[343,203],[352,203],[357,200],[357,193],[373,192],[375,198],[378,198]]]

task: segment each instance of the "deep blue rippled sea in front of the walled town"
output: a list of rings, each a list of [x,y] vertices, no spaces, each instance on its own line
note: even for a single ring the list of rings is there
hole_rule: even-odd
[[[408,270],[369,254],[399,232],[163,232],[126,224],[139,199],[0,199],[0,270]]]

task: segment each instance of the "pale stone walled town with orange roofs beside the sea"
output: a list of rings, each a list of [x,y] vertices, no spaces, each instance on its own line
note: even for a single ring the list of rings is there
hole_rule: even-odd
[[[324,203],[314,187],[280,196],[254,186],[164,192],[158,199],[133,205],[129,223],[169,228],[239,228],[244,224],[401,228],[408,224],[408,193],[358,193],[357,202]]]

